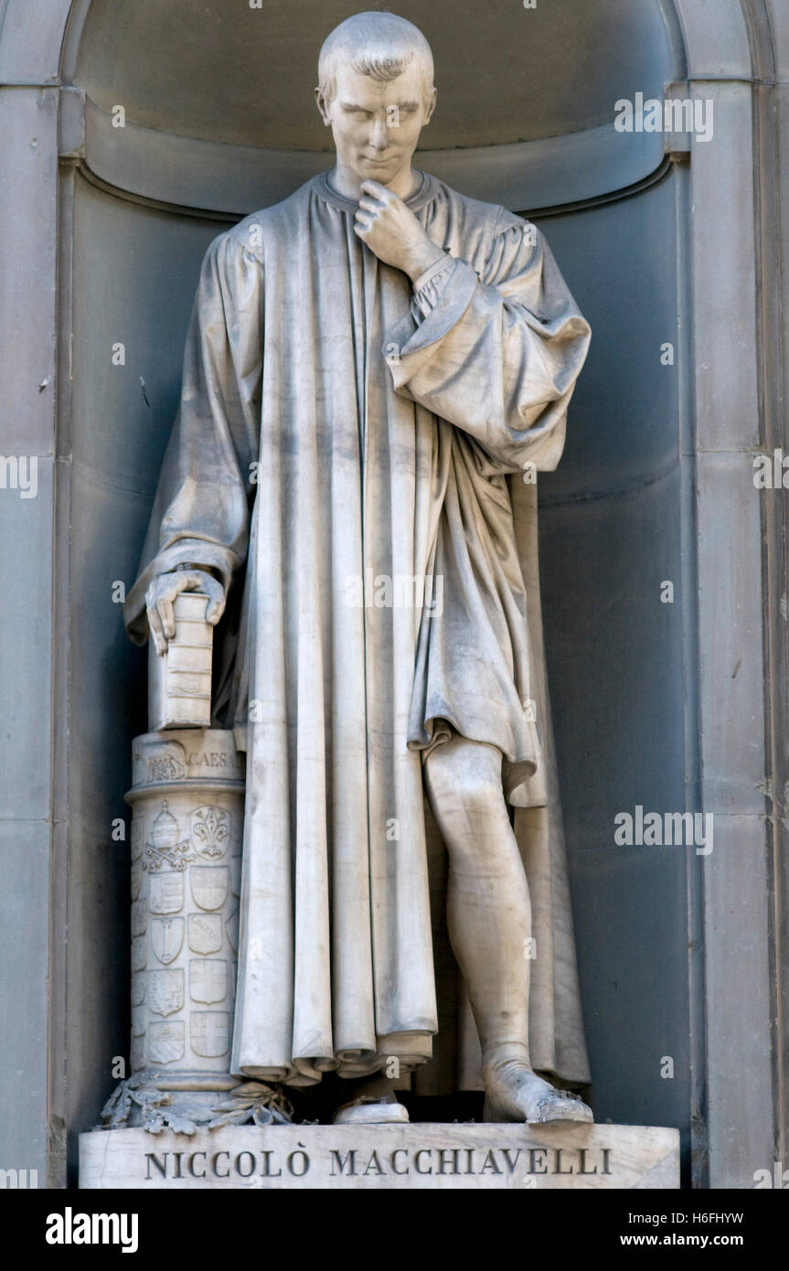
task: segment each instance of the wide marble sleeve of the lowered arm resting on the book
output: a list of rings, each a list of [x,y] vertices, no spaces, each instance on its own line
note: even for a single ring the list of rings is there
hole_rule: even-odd
[[[226,594],[246,554],[260,436],[263,296],[263,262],[241,230],[215,239],[194,297],[180,407],[123,611],[135,643],[147,637],[145,592],[158,573],[199,564]]]

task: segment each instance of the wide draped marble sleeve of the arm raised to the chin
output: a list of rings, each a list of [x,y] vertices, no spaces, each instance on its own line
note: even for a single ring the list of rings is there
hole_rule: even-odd
[[[551,470],[590,327],[536,226],[504,211],[499,226],[480,275],[450,257],[415,280],[384,356],[398,393],[470,433],[503,472]]]

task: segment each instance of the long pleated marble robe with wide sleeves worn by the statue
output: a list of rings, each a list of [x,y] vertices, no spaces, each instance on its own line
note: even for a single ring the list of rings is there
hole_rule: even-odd
[[[245,572],[215,700],[246,751],[231,1070],[429,1059],[422,759],[456,731],[503,755],[532,1063],[583,1083],[523,475],[559,460],[590,329],[529,222],[426,174],[407,202],[445,249],[413,287],[325,174],[211,244],[127,627],[146,638],[159,572]]]

